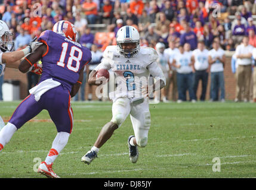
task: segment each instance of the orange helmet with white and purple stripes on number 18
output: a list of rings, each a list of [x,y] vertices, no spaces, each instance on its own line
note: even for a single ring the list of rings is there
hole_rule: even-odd
[[[61,34],[62,36],[67,37],[68,39],[76,42],[78,35],[75,26],[66,20],[58,21],[53,26],[53,31],[55,33]]]

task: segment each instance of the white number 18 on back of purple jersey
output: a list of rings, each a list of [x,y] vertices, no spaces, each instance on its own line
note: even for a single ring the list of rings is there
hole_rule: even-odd
[[[62,67],[65,66],[64,60],[66,58],[66,53],[67,53],[67,47],[68,46],[69,46],[69,43],[67,43],[67,42],[62,43],[62,52],[61,52],[61,55],[60,55],[60,61],[57,62],[58,66],[62,66]],[[75,52],[78,52],[77,57],[75,56]],[[78,47],[76,47],[76,46],[71,47],[70,53],[69,53],[69,59],[67,61],[67,68],[69,70],[74,71],[74,72],[78,72],[79,66],[80,66],[80,61],[82,59],[82,54],[83,54],[82,50],[79,49]],[[76,62],[75,67],[72,66],[73,61]]]

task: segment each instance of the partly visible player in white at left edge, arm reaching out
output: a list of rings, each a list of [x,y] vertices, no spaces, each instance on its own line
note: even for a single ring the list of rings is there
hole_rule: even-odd
[[[4,72],[5,65],[11,68],[18,68],[21,58],[42,45],[41,42],[32,41],[24,49],[11,52],[14,47],[14,42],[11,36],[13,36],[13,33],[9,30],[7,24],[0,20],[0,76]],[[39,71],[38,66],[38,64],[31,64],[30,71]]]

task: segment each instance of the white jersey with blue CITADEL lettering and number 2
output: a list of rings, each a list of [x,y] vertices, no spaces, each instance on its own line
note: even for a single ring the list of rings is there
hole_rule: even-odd
[[[151,47],[140,47],[137,55],[131,58],[122,56],[116,46],[107,46],[103,53],[103,60],[94,69],[112,69],[115,74],[116,90],[109,93],[114,102],[119,97],[128,97],[131,100],[142,97],[141,88],[147,85],[150,74],[156,81],[162,79],[166,83],[162,69],[156,60],[158,53]]]

